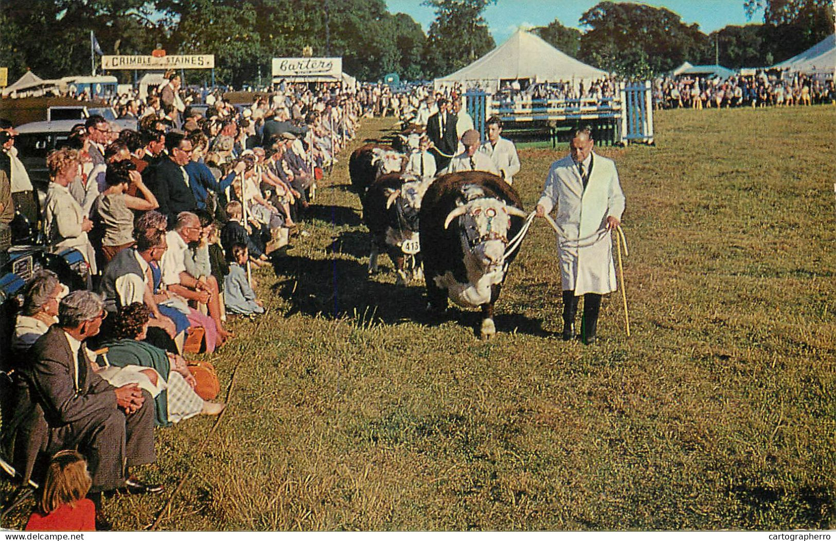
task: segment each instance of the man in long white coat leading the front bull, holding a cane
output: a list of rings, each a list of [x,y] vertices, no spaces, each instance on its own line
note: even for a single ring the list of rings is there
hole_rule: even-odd
[[[563,282],[563,340],[574,336],[578,299],[584,296],[584,343],[595,341],[601,296],[616,291],[610,232],[621,224],[624,193],[613,160],[595,154],[592,129],[578,129],[570,154],[552,164],[537,215],[557,208],[558,258]]]

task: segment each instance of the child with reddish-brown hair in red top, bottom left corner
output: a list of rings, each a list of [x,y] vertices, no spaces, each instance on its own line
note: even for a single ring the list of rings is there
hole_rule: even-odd
[[[93,483],[87,461],[77,451],[56,453],[49,462],[47,479],[38,509],[29,517],[27,530],[48,532],[92,532],[96,509],[84,498]]]

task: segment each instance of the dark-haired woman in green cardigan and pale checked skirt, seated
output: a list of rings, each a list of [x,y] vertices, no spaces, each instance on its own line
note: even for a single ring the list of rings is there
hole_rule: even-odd
[[[116,315],[114,339],[107,347],[107,362],[112,367],[148,367],[162,377],[162,392],[155,397],[157,426],[170,426],[198,414],[217,415],[223,404],[205,402],[194,391],[195,377],[186,360],[179,355],[151,346],[145,340],[150,310],[139,302],[120,308]]]

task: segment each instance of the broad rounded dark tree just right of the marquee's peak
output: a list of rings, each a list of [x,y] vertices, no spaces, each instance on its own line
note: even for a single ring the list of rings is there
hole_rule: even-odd
[[[665,8],[602,2],[580,19],[580,59],[627,77],[647,78],[700,56],[706,35]]]

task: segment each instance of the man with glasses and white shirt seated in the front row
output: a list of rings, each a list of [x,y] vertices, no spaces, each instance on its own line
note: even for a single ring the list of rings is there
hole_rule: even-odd
[[[191,276],[186,271],[188,244],[196,242],[200,234],[201,223],[194,213],[181,212],[177,215],[174,230],[166,233],[168,250],[161,261],[162,281],[171,293],[208,307],[209,316],[215,321],[217,343],[223,345],[232,333],[224,328],[221,321],[217,280],[214,276],[208,276],[206,281],[199,281],[197,276]]]

